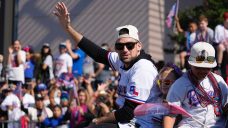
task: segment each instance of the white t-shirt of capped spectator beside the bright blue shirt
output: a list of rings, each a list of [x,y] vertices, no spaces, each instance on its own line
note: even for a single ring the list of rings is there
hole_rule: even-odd
[[[72,67],[73,59],[67,54],[61,54],[55,61],[55,76],[59,77],[62,73],[68,72],[68,67]]]

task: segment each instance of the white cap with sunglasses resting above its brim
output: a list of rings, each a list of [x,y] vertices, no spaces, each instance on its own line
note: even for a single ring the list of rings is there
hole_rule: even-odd
[[[215,49],[207,42],[197,42],[191,48],[188,63],[195,67],[214,68],[217,66]]]

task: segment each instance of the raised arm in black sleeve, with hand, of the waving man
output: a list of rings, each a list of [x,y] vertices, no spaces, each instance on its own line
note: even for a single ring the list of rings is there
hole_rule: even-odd
[[[66,32],[73,38],[75,45],[80,47],[86,54],[88,54],[95,61],[107,64],[108,51],[100,48],[90,40],[83,37],[79,32],[77,32],[70,24],[70,15],[67,10],[66,5],[63,2],[58,2],[55,6],[56,11],[54,14],[58,17],[60,23]]]

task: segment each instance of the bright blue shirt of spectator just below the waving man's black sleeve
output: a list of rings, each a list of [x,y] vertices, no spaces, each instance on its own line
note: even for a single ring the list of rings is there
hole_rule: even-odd
[[[73,59],[72,73],[74,77],[82,76],[83,74],[83,62],[86,54],[81,49],[74,49],[73,52],[79,56],[78,59]]]

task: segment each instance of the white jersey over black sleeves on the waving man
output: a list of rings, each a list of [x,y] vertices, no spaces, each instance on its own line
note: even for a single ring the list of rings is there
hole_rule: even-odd
[[[116,101],[120,107],[124,105],[126,99],[139,104],[150,99],[153,83],[158,74],[151,61],[140,59],[129,69],[124,69],[124,64],[120,61],[117,53],[110,52],[108,60],[111,67],[120,74]],[[143,121],[138,119],[136,122],[142,124]]]

